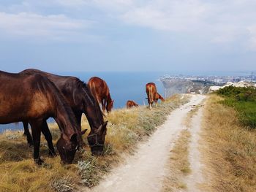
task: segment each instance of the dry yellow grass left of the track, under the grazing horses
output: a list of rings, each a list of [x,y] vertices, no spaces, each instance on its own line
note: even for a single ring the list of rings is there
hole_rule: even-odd
[[[170,111],[186,102],[186,97],[173,96],[152,111],[146,107],[114,110],[107,116],[105,155],[91,156],[86,146],[76,153],[71,165],[61,165],[59,156],[48,158],[47,143],[42,138],[40,155],[45,164],[36,166],[33,148],[26,144],[23,132],[6,131],[0,135],[0,191],[75,191],[81,186],[97,185],[102,175],[122,161],[124,154],[135,152],[137,143],[162,124]],[[89,128],[86,118],[82,127]],[[52,124],[50,131],[55,144],[59,128]]]

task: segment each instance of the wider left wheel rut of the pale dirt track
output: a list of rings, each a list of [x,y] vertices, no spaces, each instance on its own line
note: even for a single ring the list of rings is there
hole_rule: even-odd
[[[187,104],[171,112],[167,120],[146,141],[138,146],[135,155],[127,157],[124,164],[113,169],[99,185],[86,191],[161,191],[162,180],[168,172],[165,164],[181,130],[186,128],[183,120],[193,106],[200,104],[205,96],[192,95]]]

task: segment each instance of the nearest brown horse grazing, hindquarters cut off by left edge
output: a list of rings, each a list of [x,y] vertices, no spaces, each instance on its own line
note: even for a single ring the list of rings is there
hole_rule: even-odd
[[[56,86],[39,74],[11,74],[0,71],[0,123],[27,121],[34,140],[34,161],[39,158],[40,134],[45,120],[53,117],[61,130],[57,149],[61,161],[71,164],[80,146],[81,133],[71,108]]]

